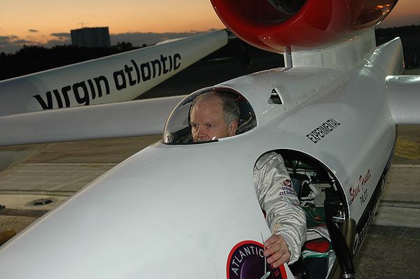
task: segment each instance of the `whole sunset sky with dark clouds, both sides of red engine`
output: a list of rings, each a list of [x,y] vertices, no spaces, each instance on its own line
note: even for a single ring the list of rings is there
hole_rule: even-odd
[[[410,24],[420,24],[419,0],[400,0],[381,27]],[[134,45],[148,32],[224,28],[209,0],[2,0],[0,52],[14,52],[24,44],[69,44],[70,30],[82,26],[109,27],[111,44],[131,41]]]

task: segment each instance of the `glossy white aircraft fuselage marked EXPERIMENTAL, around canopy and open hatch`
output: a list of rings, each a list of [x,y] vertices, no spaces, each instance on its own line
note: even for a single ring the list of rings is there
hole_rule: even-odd
[[[398,45],[351,69],[296,66],[221,84],[248,99],[257,127],[141,150],[4,245],[0,277],[226,278],[234,245],[269,236],[253,166],[271,150],[324,164],[357,223],[395,143],[384,86],[400,71]],[[268,103],[273,88],[285,103]]]

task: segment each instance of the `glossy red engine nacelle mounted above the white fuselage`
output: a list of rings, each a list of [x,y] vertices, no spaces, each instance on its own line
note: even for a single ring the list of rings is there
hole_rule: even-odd
[[[398,0],[211,0],[239,38],[272,52],[320,48],[373,28]]]

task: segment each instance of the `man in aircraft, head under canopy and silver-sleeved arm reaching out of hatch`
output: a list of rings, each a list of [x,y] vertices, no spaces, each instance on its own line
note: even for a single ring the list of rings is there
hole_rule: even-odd
[[[237,101],[226,94],[206,92],[197,96],[190,107],[193,141],[235,136],[239,115]],[[264,243],[267,263],[276,268],[285,262],[296,262],[306,236],[306,217],[279,154],[268,152],[258,159],[253,183],[272,231]]]

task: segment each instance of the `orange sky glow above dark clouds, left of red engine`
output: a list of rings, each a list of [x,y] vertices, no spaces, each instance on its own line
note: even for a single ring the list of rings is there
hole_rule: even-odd
[[[4,0],[1,7],[0,36],[38,43],[52,39],[50,34],[69,34],[71,29],[81,28],[81,22],[84,27],[109,27],[110,34],[225,28],[210,1]]]

